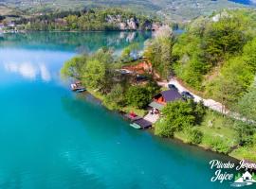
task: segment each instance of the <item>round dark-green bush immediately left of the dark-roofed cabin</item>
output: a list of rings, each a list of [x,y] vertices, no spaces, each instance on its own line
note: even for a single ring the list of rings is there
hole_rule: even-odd
[[[136,108],[145,108],[151,98],[148,89],[143,86],[132,86],[126,93],[127,103]]]

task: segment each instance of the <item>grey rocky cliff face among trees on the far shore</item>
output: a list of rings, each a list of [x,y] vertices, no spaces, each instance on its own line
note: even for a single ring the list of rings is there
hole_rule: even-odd
[[[157,30],[161,24],[151,20],[139,20],[137,17],[123,18],[120,15],[107,15],[106,22],[116,25],[120,30]]]

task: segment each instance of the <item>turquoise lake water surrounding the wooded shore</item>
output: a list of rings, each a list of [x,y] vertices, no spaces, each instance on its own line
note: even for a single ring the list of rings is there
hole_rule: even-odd
[[[0,36],[1,189],[230,188],[211,182],[210,160],[230,158],[132,129],[59,76],[79,52],[119,53],[149,33]],[[253,188],[247,187],[247,188]]]

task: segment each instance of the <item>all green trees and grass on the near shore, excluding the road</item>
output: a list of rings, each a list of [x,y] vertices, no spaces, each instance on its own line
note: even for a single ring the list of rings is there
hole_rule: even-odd
[[[162,26],[145,43],[146,60],[137,60],[136,43],[118,58],[102,48],[65,62],[62,76],[82,81],[110,110],[143,116],[156,99],[161,107],[155,135],[256,162],[255,18],[251,10],[223,11],[198,18],[177,37]],[[162,101],[159,94],[164,97],[168,89],[160,88],[157,79],[172,75],[244,119],[210,111],[188,95]]]

